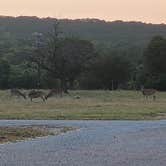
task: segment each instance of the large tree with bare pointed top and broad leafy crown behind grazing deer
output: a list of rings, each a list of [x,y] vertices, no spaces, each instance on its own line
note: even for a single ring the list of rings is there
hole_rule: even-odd
[[[85,69],[94,56],[93,44],[86,40],[64,38],[60,36],[58,23],[45,38],[43,47],[35,50],[31,57],[37,63],[61,81],[61,88],[67,93],[67,82],[73,82]]]

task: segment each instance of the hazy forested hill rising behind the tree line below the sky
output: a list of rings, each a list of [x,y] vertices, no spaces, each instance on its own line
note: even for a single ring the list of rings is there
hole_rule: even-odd
[[[0,17],[1,37],[27,38],[34,32],[46,33],[55,18]],[[61,19],[60,26],[65,35],[75,36],[104,44],[113,48],[144,47],[155,35],[166,36],[165,24],[142,22],[106,22],[98,19]],[[3,35],[2,35],[3,34]]]

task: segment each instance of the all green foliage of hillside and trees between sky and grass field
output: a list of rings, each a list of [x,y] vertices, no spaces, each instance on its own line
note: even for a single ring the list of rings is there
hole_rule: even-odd
[[[0,88],[72,88],[77,82],[75,87],[111,89],[113,80],[114,88],[166,89],[165,25],[58,20],[58,33],[48,36],[55,21],[0,17]],[[147,46],[155,35],[163,37]],[[27,65],[32,57],[38,63]]]

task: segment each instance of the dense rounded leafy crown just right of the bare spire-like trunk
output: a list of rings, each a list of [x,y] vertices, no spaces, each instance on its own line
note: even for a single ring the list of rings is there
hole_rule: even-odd
[[[61,42],[59,51],[60,63],[63,66],[63,68],[59,69],[61,71],[61,80],[66,79],[72,86],[74,80],[94,58],[93,44],[86,40],[66,38]]]

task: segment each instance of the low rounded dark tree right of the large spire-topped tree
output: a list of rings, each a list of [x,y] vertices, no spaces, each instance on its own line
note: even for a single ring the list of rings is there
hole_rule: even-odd
[[[117,89],[130,79],[131,64],[124,56],[98,56],[82,78],[86,88]]]

